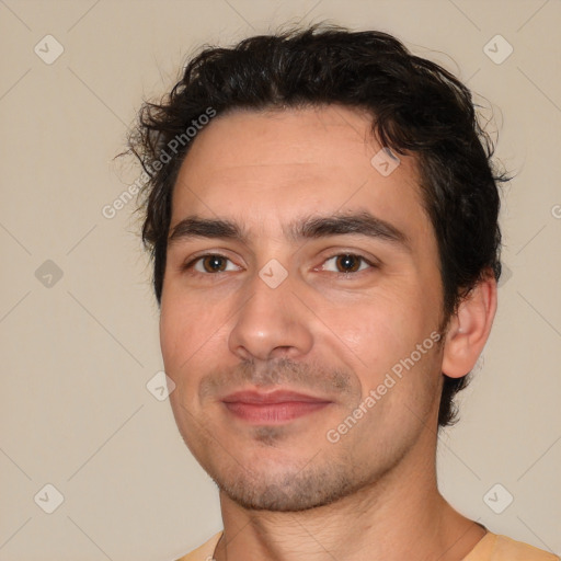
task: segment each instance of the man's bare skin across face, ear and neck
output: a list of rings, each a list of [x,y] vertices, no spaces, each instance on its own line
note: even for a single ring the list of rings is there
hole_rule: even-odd
[[[218,561],[459,560],[484,535],[438,493],[435,450],[442,373],[473,367],[495,282],[483,278],[439,331],[437,245],[415,159],[401,156],[382,176],[370,163],[380,146],[369,129],[368,115],[336,105],[239,111],[213,119],[182,164],[170,232],[197,216],[238,222],[248,234],[170,238],[161,300],[175,421],[220,489]],[[358,211],[399,229],[407,243],[287,234],[295,220]],[[204,254],[225,259],[185,267]],[[350,254],[367,261],[336,257]],[[276,288],[259,275],[272,259],[287,274]],[[356,271],[345,273],[348,263]],[[440,344],[330,442],[328,431],[436,332]],[[221,401],[277,388],[329,404],[255,425]]]

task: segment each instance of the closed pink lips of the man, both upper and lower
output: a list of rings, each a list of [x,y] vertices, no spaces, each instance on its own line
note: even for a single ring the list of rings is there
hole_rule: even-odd
[[[238,391],[221,401],[233,416],[254,425],[284,424],[332,403],[321,398],[284,390],[268,393]]]

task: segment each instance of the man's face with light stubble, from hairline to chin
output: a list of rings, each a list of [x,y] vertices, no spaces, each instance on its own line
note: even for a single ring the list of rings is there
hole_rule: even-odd
[[[373,164],[369,128],[340,106],[220,116],[174,187],[170,400],[194,456],[245,507],[328,504],[420,447],[434,455],[437,245],[415,161]]]

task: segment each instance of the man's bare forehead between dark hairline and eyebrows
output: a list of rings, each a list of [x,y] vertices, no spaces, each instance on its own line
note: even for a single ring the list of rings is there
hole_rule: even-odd
[[[299,215],[368,208],[414,236],[427,226],[415,159],[400,157],[385,175],[380,150],[371,116],[336,105],[215,117],[181,167],[171,226],[187,215],[231,216],[263,233]]]

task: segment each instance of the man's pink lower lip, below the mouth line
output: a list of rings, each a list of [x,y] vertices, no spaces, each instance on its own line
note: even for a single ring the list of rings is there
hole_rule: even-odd
[[[328,401],[284,401],[282,403],[225,402],[234,416],[253,424],[275,425],[309,415],[324,407]]]

